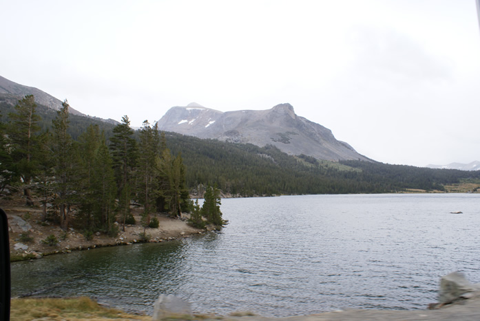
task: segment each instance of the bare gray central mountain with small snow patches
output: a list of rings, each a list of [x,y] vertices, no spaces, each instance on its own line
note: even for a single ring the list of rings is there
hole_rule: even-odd
[[[226,142],[271,144],[290,155],[304,154],[317,159],[371,160],[336,140],[330,129],[296,115],[291,104],[278,104],[264,111],[223,113],[191,103],[169,109],[158,121],[158,129]]]

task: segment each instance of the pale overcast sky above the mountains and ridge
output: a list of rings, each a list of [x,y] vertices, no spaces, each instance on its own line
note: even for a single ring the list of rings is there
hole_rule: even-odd
[[[0,75],[89,115],[289,102],[380,162],[480,160],[474,0],[0,3]]]

